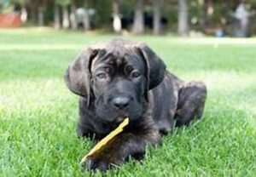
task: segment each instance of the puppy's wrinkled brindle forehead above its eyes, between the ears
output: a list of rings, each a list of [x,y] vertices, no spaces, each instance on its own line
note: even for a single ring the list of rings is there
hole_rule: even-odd
[[[107,49],[99,52],[91,67],[93,70],[98,68],[114,66],[115,68],[124,68],[132,66],[139,71],[145,70],[143,56],[132,49]]]

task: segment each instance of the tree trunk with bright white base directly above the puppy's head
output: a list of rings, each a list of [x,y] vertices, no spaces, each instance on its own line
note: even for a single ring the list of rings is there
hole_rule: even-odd
[[[122,31],[121,17],[119,15],[119,0],[113,0],[113,31]]]

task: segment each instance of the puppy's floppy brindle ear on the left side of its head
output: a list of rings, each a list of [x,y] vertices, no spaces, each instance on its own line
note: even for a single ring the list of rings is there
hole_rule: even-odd
[[[79,94],[90,103],[90,65],[92,60],[98,54],[97,49],[86,49],[76,60],[68,66],[64,76],[67,88],[74,94]]]

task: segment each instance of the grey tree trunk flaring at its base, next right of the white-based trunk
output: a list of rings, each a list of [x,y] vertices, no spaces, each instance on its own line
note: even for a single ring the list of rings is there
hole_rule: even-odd
[[[144,0],[137,0],[132,31],[135,34],[144,32]]]

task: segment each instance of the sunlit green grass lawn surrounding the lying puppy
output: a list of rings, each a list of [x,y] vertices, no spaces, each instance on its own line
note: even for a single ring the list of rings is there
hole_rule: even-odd
[[[0,31],[0,176],[80,176],[92,146],[75,134],[78,97],[63,73],[79,50],[113,36]],[[168,70],[207,83],[204,119],[177,129],[143,163],[109,176],[255,176],[256,39],[126,37],[148,43]],[[100,174],[96,174],[100,175]]]

